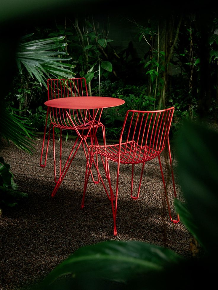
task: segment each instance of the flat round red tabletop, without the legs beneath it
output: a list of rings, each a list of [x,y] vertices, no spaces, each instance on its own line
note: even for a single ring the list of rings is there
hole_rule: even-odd
[[[69,97],[45,102],[48,107],[59,109],[102,109],[123,105],[124,100],[112,97]]]

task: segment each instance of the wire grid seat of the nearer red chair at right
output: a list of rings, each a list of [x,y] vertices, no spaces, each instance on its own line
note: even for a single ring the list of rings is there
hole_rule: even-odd
[[[118,162],[119,144],[106,146],[90,146],[97,154],[107,157],[108,160]],[[162,151],[162,150],[161,150]],[[121,143],[120,163],[144,163],[157,157],[161,152],[149,146],[139,146],[135,141]]]

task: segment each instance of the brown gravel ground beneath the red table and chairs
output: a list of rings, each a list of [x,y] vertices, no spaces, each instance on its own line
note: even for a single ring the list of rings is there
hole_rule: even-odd
[[[10,164],[19,190],[28,193],[27,199],[5,210],[0,217],[1,290],[16,290],[36,283],[81,246],[105,240],[140,240],[165,246],[182,256],[193,255],[190,233],[182,222],[175,225],[169,221],[157,158],[146,164],[138,200],[130,197],[131,168],[121,167],[118,234],[114,237],[111,204],[102,184],[89,180],[85,206],[80,209],[86,163],[82,149],[52,198],[55,185],[52,146],[47,166],[42,168],[39,166],[41,144],[42,138],[38,137],[33,155],[14,144],[4,141],[1,144],[0,156]],[[63,159],[71,146],[72,140],[63,143]],[[164,156],[161,158],[164,162]],[[116,167],[111,165],[110,170],[113,174]],[[140,166],[136,166],[135,177],[140,177]],[[169,186],[170,192],[171,189]]]

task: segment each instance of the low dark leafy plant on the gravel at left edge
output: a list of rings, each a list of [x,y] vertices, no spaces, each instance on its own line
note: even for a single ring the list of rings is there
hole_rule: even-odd
[[[17,190],[18,185],[10,172],[10,165],[0,157],[0,207],[13,207],[18,201],[28,194]]]

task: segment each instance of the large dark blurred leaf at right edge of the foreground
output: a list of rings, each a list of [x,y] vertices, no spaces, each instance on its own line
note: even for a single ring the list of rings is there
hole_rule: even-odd
[[[218,247],[217,144],[218,133],[197,123],[185,123],[177,138],[179,181],[193,221],[181,219],[210,253]]]

